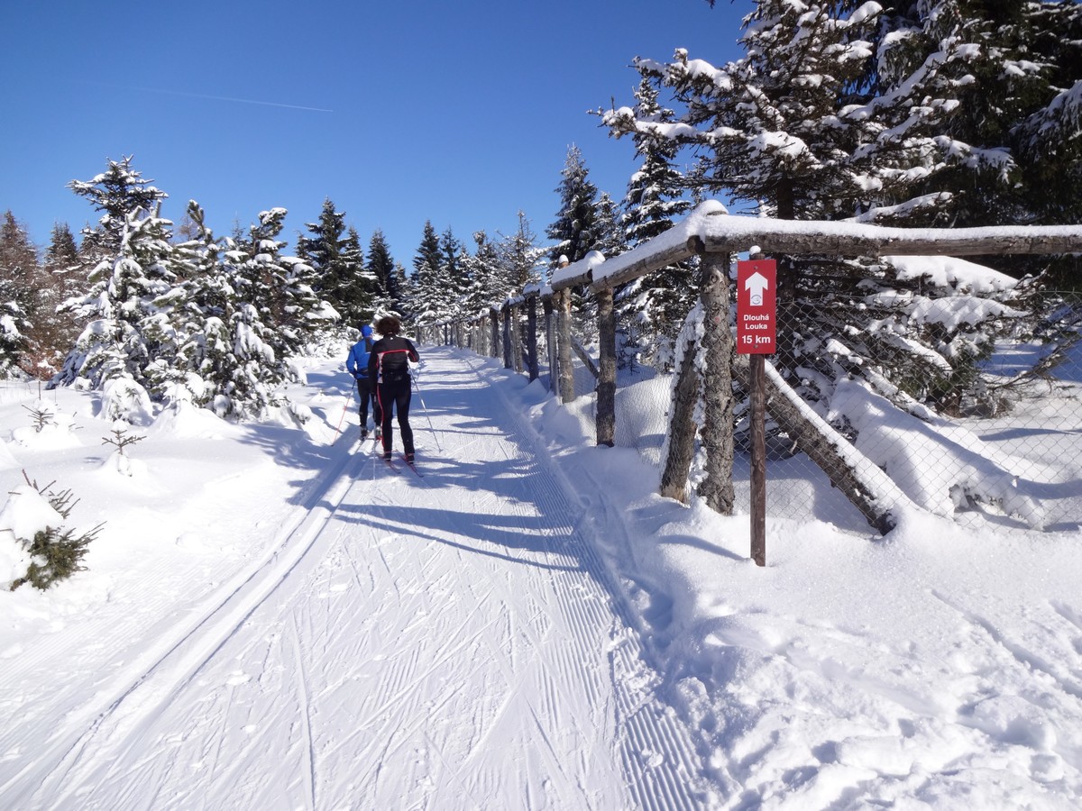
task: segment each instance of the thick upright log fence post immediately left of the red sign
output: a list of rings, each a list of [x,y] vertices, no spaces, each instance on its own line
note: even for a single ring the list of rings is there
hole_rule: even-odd
[[[703,425],[705,478],[699,495],[717,513],[733,515],[733,331],[729,328],[729,254],[702,257]]]

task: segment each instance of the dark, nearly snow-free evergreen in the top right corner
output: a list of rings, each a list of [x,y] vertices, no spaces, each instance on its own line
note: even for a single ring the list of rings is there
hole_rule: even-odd
[[[968,173],[953,185],[959,225],[1082,222],[1082,5],[960,2],[950,17],[979,44],[959,88],[952,135],[1010,156],[1004,177]],[[1013,276],[1077,285],[1077,257],[995,257]],[[1051,272],[1050,272],[1051,269]]]

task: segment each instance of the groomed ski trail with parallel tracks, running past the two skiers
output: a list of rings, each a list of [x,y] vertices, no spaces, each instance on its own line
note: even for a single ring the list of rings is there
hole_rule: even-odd
[[[424,356],[425,477],[355,443],[252,585],[130,678],[25,807],[709,803],[582,504],[480,364]]]

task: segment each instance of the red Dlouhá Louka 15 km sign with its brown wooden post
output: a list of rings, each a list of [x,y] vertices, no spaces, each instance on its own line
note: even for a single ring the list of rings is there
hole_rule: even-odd
[[[737,263],[737,351],[750,355],[751,557],[766,566],[766,363],[778,346],[778,267],[774,260]]]

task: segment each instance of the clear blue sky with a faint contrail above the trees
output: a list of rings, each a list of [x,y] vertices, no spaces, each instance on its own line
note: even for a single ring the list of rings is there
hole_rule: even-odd
[[[632,59],[739,55],[751,0],[3,3],[0,212],[39,244],[96,221],[67,188],[107,159],[195,199],[220,234],[330,198],[411,266],[425,220],[472,247],[523,210],[544,242],[568,146],[620,199],[636,168],[588,109],[634,103]]]

